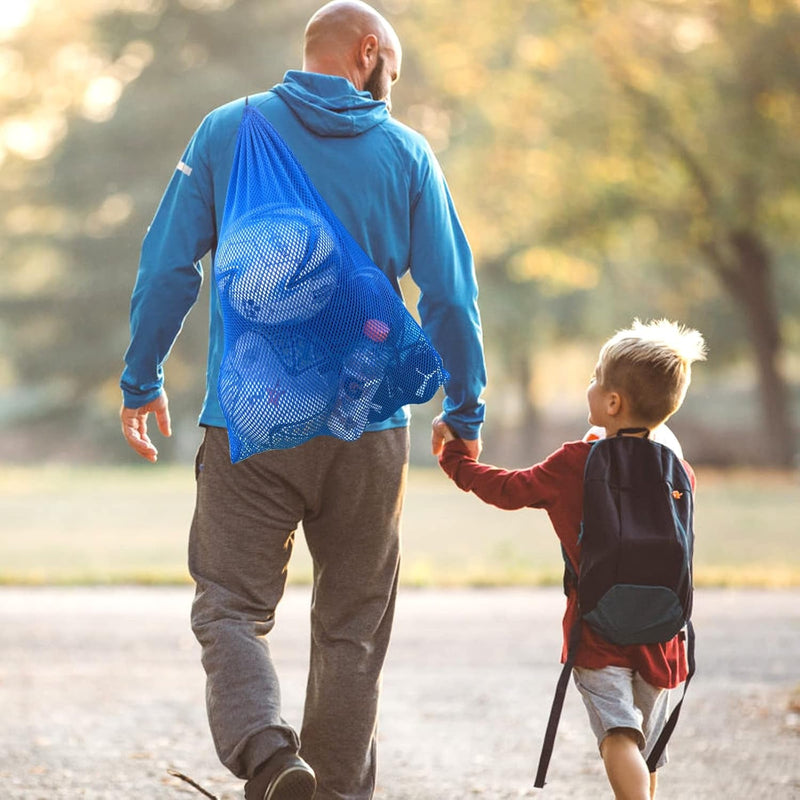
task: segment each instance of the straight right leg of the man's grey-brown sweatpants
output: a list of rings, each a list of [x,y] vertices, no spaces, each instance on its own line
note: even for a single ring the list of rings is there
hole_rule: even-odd
[[[301,755],[316,800],[369,800],[380,676],[391,632],[408,461],[405,428],[342,443],[303,528],[314,560]]]

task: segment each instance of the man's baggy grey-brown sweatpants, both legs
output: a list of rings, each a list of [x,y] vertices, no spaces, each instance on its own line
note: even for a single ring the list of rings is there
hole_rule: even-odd
[[[217,753],[238,777],[252,777],[276,750],[302,741],[300,752],[317,773],[317,800],[372,797],[408,442],[405,428],[355,442],[323,436],[231,464],[227,431],[206,429],[189,538],[192,629]],[[301,520],[314,588],[298,739],[281,718],[266,636]]]

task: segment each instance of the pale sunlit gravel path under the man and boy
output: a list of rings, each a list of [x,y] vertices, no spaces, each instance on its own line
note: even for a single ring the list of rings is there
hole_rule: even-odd
[[[309,593],[271,638],[299,722]],[[200,798],[219,766],[188,630],[189,588],[0,589],[0,798]],[[800,591],[701,591],[699,672],[660,800],[800,798]],[[401,590],[385,678],[376,800],[609,797],[577,692],[550,782],[532,785],[558,675],[556,589]],[[794,710],[792,710],[794,706]]]

